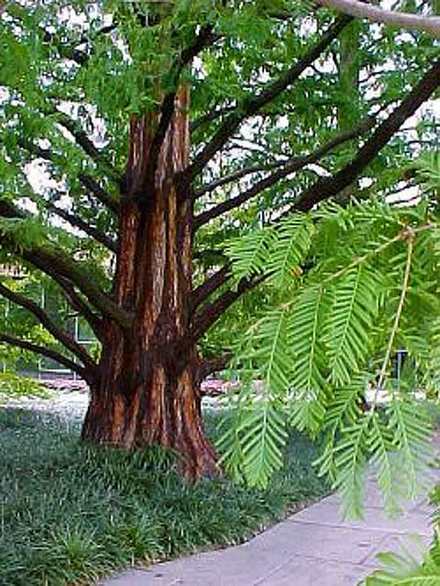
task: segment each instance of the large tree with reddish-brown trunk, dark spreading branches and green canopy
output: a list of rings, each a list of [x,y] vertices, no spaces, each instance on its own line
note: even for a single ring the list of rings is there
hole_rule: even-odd
[[[377,75],[380,96],[367,92],[357,124],[339,132],[331,54],[352,20],[289,1],[6,5],[0,260],[48,275],[102,351],[94,360],[6,284],[2,297],[66,352],[13,332],[0,342],[84,377],[84,440],[158,442],[189,479],[219,472],[199,386],[230,354],[207,359],[197,343],[268,278],[236,281],[227,241],[248,233],[258,255],[262,214],[295,217],[362,175],[392,188],[396,156],[405,166],[412,155],[400,128],[440,84],[427,35],[362,25],[359,68],[364,83]],[[414,140],[434,140],[435,125],[428,111]],[[29,175],[36,162],[46,189]]]

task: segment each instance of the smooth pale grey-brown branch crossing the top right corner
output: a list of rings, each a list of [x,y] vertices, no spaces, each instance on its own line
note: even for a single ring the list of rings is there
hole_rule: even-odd
[[[316,0],[317,4],[336,8],[345,14],[367,18],[373,22],[381,22],[390,26],[397,26],[406,30],[424,30],[430,35],[440,37],[440,18],[436,16],[421,16],[405,12],[385,10],[357,0]]]

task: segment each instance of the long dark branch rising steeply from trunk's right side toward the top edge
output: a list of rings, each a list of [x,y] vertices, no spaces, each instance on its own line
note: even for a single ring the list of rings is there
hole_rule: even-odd
[[[272,81],[253,98],[247,98],[237,105],[236,110],[228,115],[220,128],[214,134],[210,142],[202,149],[195,161],[179,173],[178,179],[183,183],[191,183],[193,179],[202,171],[207,162],[223,147],[224,144],[234,135],[234,132],[240,127],[242,122],[247,118],[257,114],[266,104],[275,100],[286,88],[295,83],[299,76],[305,71],[318,57],[331,45],[339,33],[352,22],[352,16],[342,16],[338,18],[333,25],[329,27],[326,33],[320,38],[318,43],[296,63],[291,69],[286,71],[279,79]]]

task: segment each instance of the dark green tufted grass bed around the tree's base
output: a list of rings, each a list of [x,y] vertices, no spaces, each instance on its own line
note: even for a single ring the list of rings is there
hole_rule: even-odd
[[[217,418],[207,415],[215,434]],[[0,409],[0,585],[91,584],[148,564],[249,539],[328,486],[316,448],[293,434],[262,492],[227,479],[186,486],[173,456],[85,447],[80,422]]]

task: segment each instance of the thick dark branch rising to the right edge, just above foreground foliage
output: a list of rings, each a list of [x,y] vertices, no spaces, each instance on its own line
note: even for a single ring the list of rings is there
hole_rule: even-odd
[[[316,203],[334,197],[349,186],[390,141],[405,120],[410,118],[439,86],[440,61],[437,61],[401,104],[378,125],[376,131],[359,149],[356,157],[332,177],[319,179],[292,206],[292,210],[308,212]]]

